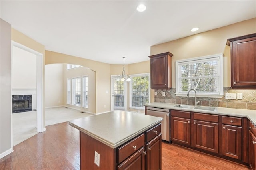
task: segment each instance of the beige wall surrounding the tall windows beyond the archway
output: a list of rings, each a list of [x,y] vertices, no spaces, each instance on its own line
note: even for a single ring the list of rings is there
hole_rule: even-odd
[[[67,70],[66,64],[64,67],[64,98],[63,103],[64,105],[67,105],[68,107],[73,107],[82,111],[86,111],[88,113],[96,113],[96,81],[95,81],[95,75],[96,73],[92,71],[91,69],[88,69],[87,67],[76,67],[74,69]],[[67,79],[72,79],[76,77],[83,77],[88,76],[88,108],[84,108],[82,106],[75,106],[75,105],[69,105],[66,103],[67,99]]]

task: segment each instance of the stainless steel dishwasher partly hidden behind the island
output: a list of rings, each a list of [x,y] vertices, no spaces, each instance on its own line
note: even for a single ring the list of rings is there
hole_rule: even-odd
[[[147,115],[162,117],[161,122],[162,140],[170,142],[170,110],[156,107],[147,107]]]

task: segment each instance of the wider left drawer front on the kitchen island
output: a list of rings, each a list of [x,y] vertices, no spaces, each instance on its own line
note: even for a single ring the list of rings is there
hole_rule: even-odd
[[[124,146],[118,148],[118,164],[144,146],[145,135],[141,134]]]

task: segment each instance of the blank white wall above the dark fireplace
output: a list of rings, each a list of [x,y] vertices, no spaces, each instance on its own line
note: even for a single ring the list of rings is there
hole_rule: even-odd
[[[36,55],[12,47],[12,88],[36,89]]]

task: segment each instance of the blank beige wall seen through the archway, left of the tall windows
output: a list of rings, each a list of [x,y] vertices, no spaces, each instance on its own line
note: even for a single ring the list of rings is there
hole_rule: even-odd
[[[63,106],[64,64],[45,65],[45,108]]]

